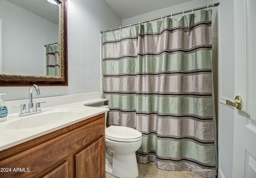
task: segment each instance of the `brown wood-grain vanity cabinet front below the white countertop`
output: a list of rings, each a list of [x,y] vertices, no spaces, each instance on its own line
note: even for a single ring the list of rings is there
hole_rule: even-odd
[[[104,114],[0,152],[0,178],[105,178]]]

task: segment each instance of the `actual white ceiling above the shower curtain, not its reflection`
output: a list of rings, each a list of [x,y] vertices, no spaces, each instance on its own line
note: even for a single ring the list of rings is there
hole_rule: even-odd
[[[105,0],[121,19],[159,10],[191,0]]]

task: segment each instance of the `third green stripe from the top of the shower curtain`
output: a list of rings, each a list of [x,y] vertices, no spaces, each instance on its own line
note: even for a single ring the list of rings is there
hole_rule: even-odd
[[[151,96],[120,96],[109,95],[110,108],[124,110],[160,112],[173,114],[195,114],[198,116],[212,116],[212,98],[172,98]],[[195,107],[196,106],[196,107]]]

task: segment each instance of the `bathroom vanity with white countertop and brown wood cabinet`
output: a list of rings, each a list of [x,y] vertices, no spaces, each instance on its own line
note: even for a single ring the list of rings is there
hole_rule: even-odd
[[[9,139],[16,140],[7,143],[5,138],[0,142],[0,178],[105,178],[106,109],[81,103],[66,108],[72,107],[84,112],[74,119],[58,121],[61,126],[49,124],[10,130],[5,129],[8,124],[0,123],[0,136],[9,134]]]

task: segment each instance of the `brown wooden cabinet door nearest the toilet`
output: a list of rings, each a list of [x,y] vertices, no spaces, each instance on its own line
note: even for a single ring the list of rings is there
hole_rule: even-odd
[[[76,178],[105,178],[105,137],[75,155]]]

